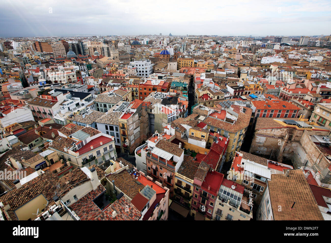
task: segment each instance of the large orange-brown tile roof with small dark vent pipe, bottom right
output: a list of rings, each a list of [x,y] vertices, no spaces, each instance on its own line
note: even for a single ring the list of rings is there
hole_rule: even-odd
[[[268,181],[274,220],[324,220],[303,172],[300,169],[289,171],[288,177],[271,174]]]

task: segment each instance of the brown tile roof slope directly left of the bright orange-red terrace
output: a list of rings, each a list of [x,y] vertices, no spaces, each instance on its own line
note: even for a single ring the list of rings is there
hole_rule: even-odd
[[[115,186],[129,198],[133,198],[139,190],[141,191],[145,187],[142,184],[138,184],[137,180],[134,179],[126,170],[118,174],[108,174],[106,177],[109,181],[114,180]]]

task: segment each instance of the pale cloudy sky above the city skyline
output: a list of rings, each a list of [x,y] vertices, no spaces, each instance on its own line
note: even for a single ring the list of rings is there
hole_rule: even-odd
[[[0,36],[330,35],[330,0],[0,0]]]

